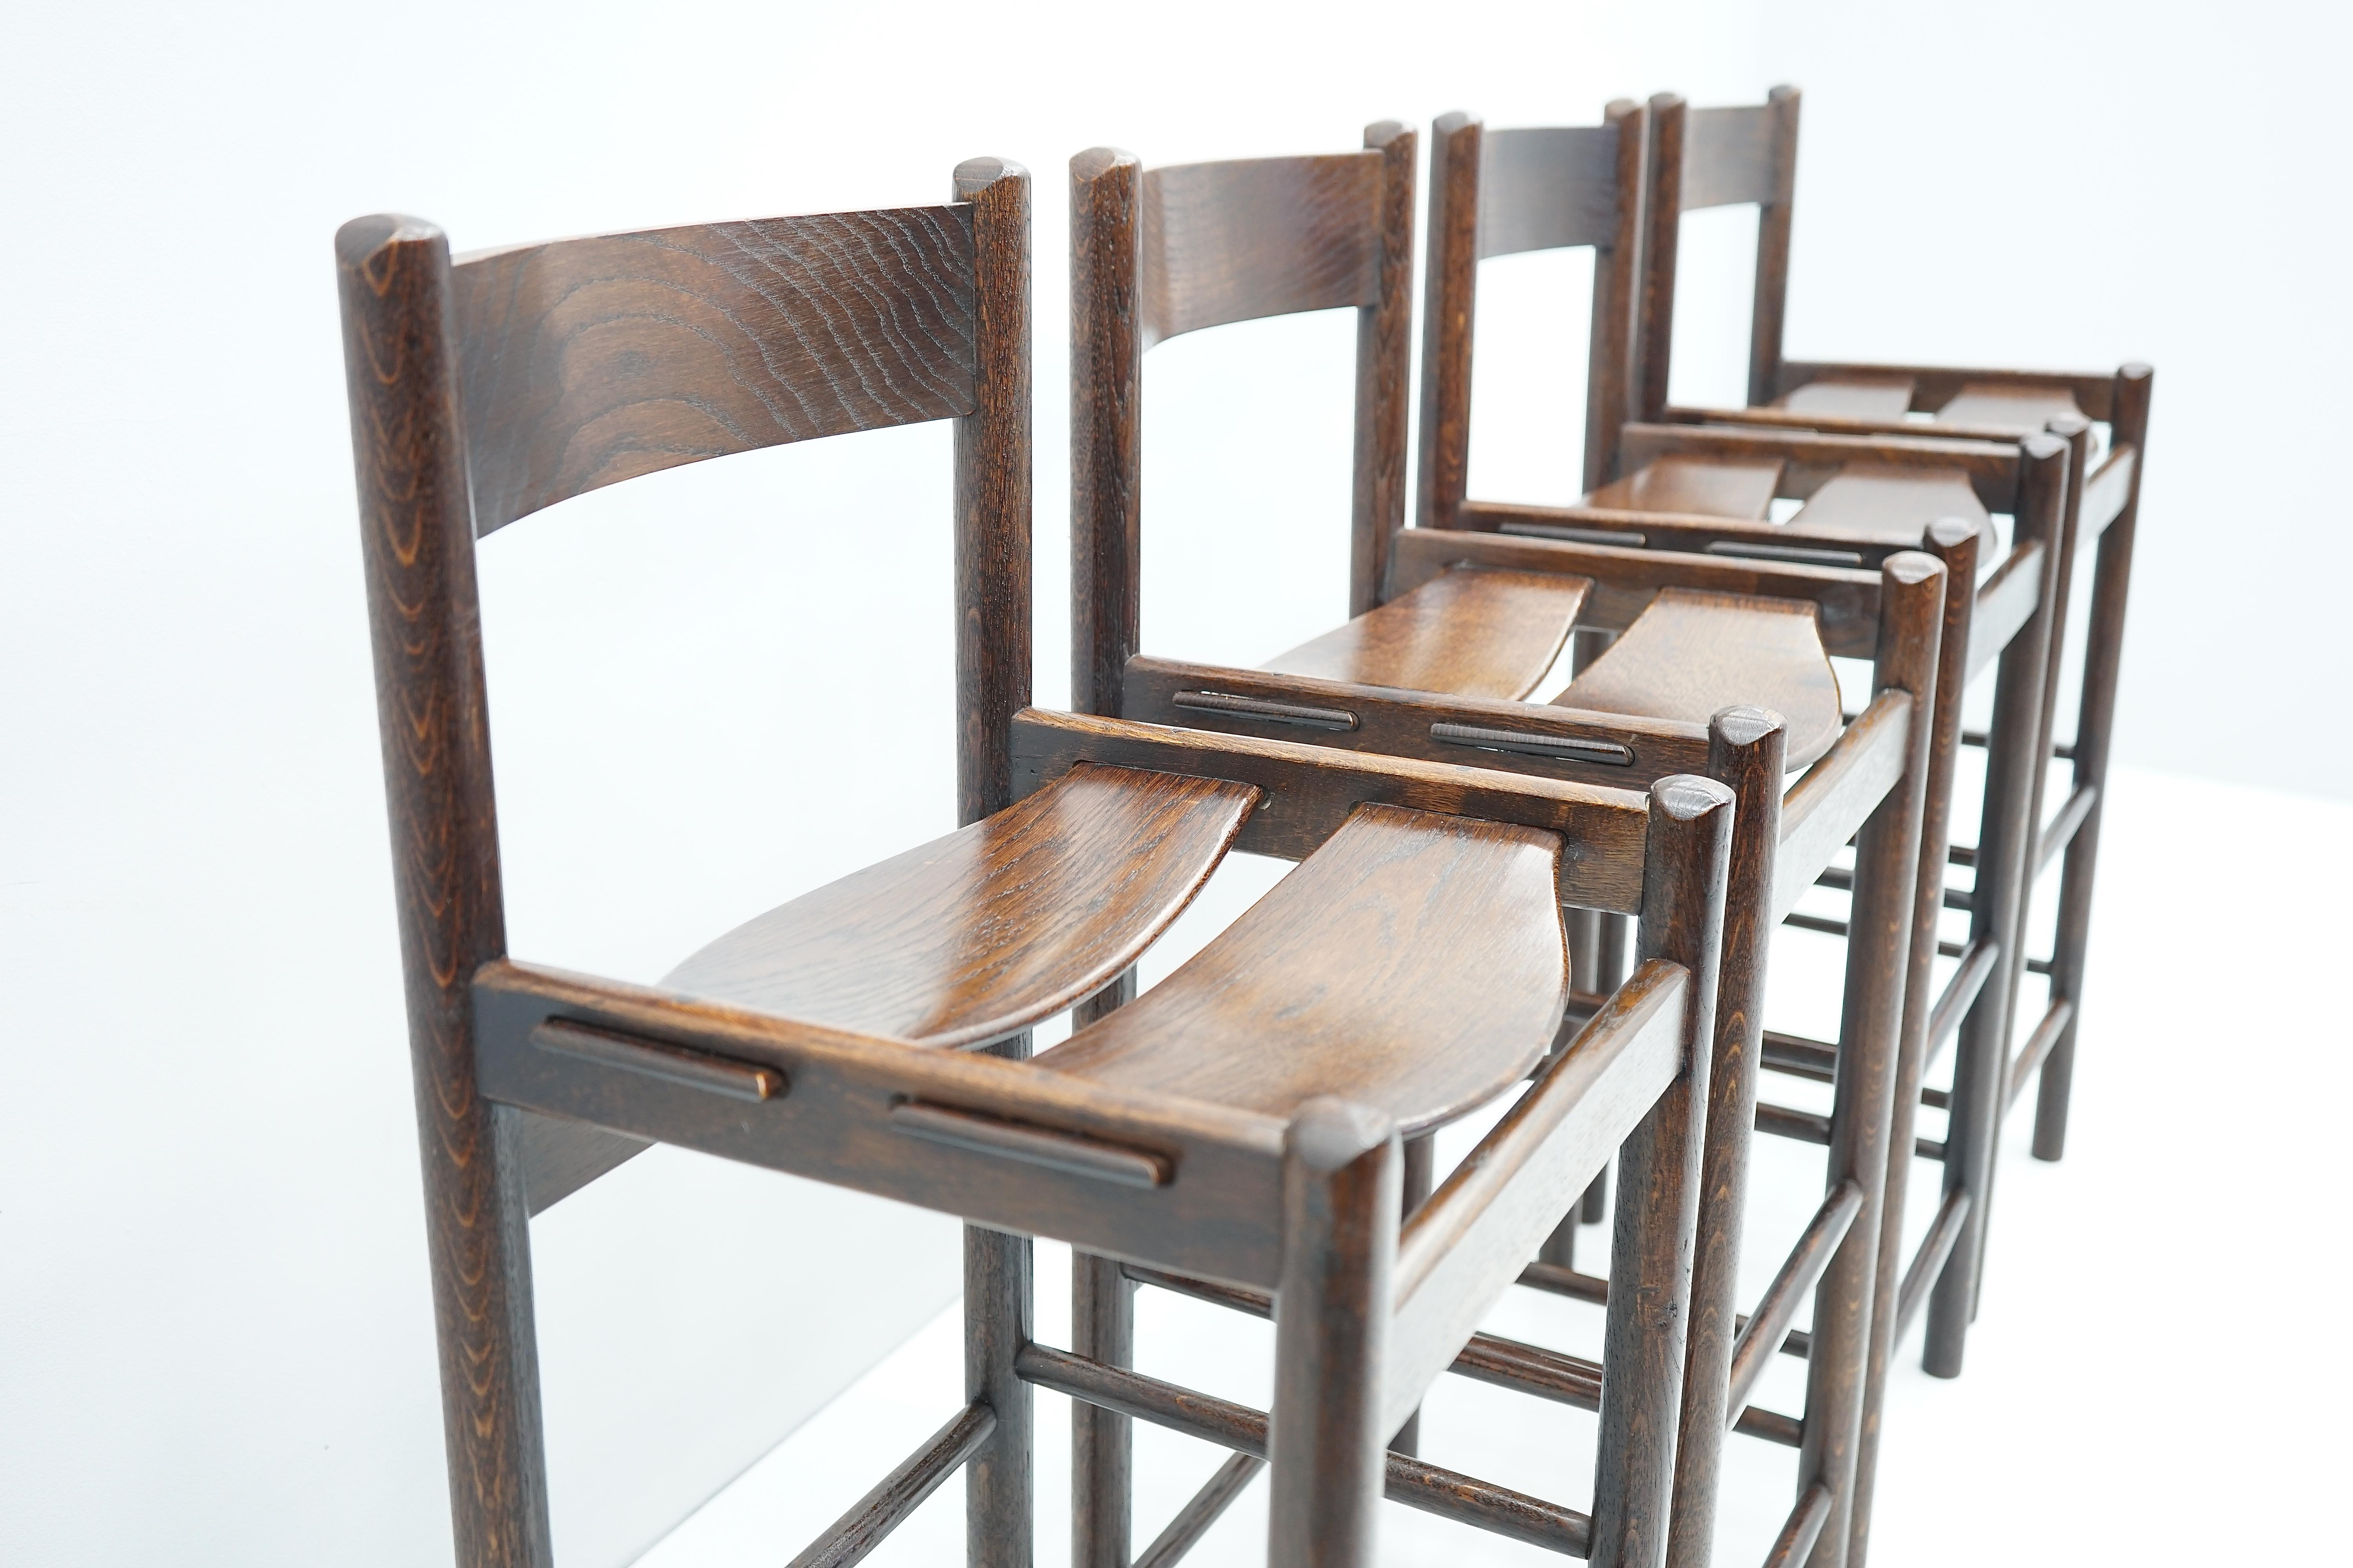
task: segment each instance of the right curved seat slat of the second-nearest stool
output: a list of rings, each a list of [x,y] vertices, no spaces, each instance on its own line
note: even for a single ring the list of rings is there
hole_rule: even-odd
[[[1555,708],[1692,724],[1737,703],[1781,715],[1791,769],[1838,741],[1838,675],[1809,602],[1666,588],[1553,698]]]

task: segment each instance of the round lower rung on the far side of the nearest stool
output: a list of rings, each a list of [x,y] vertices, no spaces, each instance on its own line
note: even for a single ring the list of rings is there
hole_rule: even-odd
[[[1266,1413],[1214,1399],[1174,1382],[1160,1382],[1087,1356],[1073,1356],[1049,1345],[1024,1345],[1014,1371],[1028,1382],[1071,1399],[1085,1399],[1104,1410],[1148,1420],[1169,1432],[1184,1432],[1235,1453],[1266,1458]],[[1593,1519],[1544,1497],[1515,1493],[1454,1469],[1424,1465],[1402,1453],[1388,1455],[1381,1488],[1391,1502],[1478,1526],[1508,1540],[1544,1547],[1567,1556],[1593,1549]]]

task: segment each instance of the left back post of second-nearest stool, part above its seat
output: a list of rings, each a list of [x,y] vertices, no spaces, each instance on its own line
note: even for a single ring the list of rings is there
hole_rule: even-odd
[[[1071,160],[1071,708],[1115,717],[1144,588],[1144,165]]]

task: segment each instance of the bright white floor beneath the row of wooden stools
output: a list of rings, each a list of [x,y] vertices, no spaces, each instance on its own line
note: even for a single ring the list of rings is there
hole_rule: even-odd
[[[2322,1535],[2322,1500],[2353,1458],[2353,1380],[2332,1338],[2346,1286],[2339,1107],[2353,1088],[2339,1004],[2348,870],[2344,804],[2118,778],[2068,1159],[2026,1157],[2021,1107],[1969,1371],[1920,1373],[1915,1331],[1889,1392],[1875,1561],[2346,1561],[2341,1533]],[[1252,875],[1264,886],[1245,870],[1221,889],[1202,936],[1247,903]],[[1918,1171],[1925,1199],[1934,1171]],[[1767,1140],[1758,1180],[1751,1295],[1819,1197],[1819,1150]],[[1586,1232],[1593,1246],[1600,1234]],[[1038,1338],[1068,1342],[1068,1253],[1038,1253]],[[1600,1312],[1579,1302],[1515,1291],[1489,1326],[1598,1354]],[[951,1309],[640,1561],[788,1559],[955,1408],[958,1345]],[[1271,1331],[1144,1291],[1139,1363],[1264,1406]],[[1762,1403],[1795,1408],[1798,1387],[1786,1361]],[[1038,1561],[1054,1566],[1068,1561],[1064,1399],[1038,1396]],[[1447,1378],[1424,1453],[1584,1507],[1591,1432],[1579,1410]],[[1221,1458],[1139,1427],[1139,1549]],[[1718,1561],[1746,1566],[1788,1507],[1795,1453],[1734,1439],[1727,1465]],[[951,1481],[868,1561],[958,1561],[960,1530]],[[1193,1561],[1261,1561],[1261,1530],[1264,1481]],[[1384,1514],[1384,1563],[1537,1561],[1548,1554]]]

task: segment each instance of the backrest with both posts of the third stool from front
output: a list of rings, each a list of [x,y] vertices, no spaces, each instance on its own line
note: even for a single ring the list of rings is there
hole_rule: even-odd
[[[1586,489],[1617,468],[1633,411],[1645,110],[1619,101],[1600,125],[1489,132],[1464,113],[1431,127],[1428,282],[1421,308],[1421,484],[1414,520],[1454,527],[1471,470],[1471,334],[1478,263],[1593,247],[1586,353]]]

